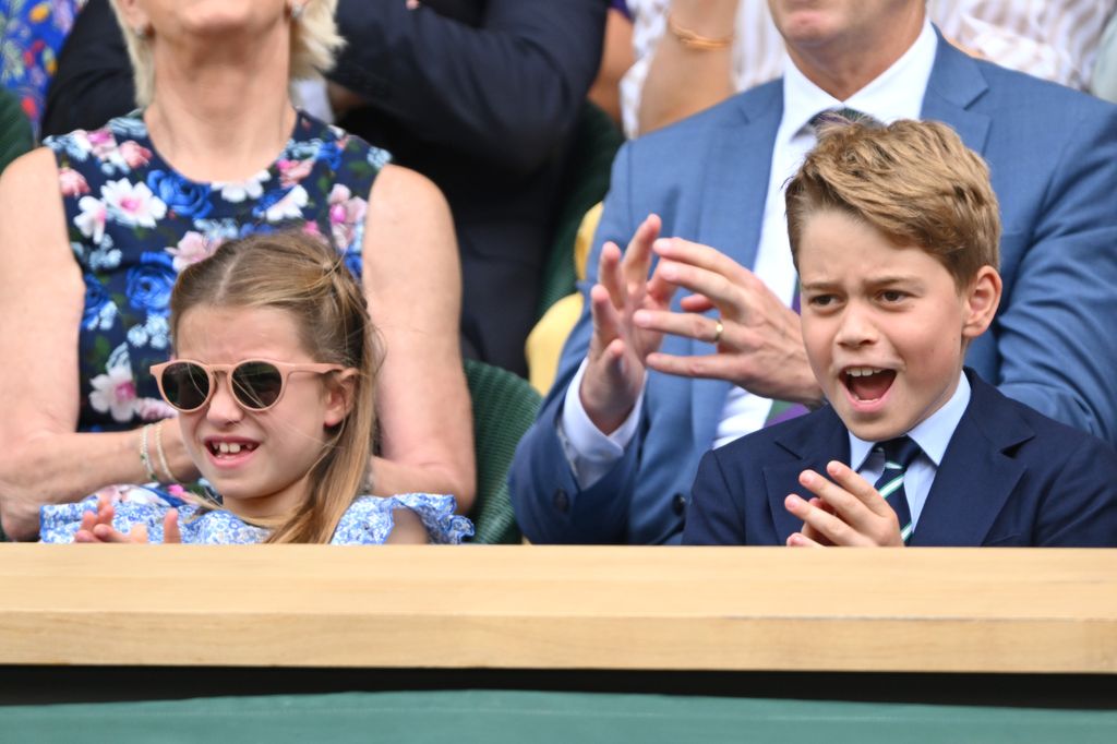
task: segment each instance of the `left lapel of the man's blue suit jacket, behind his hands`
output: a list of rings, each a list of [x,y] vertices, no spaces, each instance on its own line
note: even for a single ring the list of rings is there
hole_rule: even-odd
[[[783,117],[783,85],[780,80],[770,83],[737,96],[729,105],[736,106],[737,115],[725,117],[719,135],[712,137],[706,151],[696,235],[680,237],[717,248],[751,269],[764,222],[772,149]],[[689,353],[713,354],[714,345],[691,340]],[[731,388],[728,382],[707,380],[690,385],[691,426],[698,441],[714,440]]]

